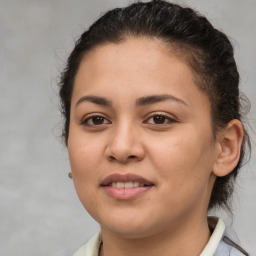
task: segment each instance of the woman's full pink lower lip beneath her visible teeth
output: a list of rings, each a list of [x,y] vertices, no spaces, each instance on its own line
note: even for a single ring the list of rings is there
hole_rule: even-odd
[[[102,187],[108,196],[119,200],[130,200],[144,194],[153,186],[135,187],[135,188],[114,188],[110,186]]]

